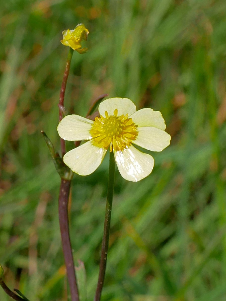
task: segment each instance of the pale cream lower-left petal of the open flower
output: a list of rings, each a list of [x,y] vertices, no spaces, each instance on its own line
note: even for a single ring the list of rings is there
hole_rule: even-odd
[[[66,153],[63,162],[79,175],[90,175],[101,164],[106,152],[106,149],[96,147],[92,141],[88,141]]]

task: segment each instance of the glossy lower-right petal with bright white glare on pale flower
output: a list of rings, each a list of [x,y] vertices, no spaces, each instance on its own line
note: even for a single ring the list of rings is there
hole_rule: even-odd
[[[150,175],[154,159],[132,145],[123,151],[114,151],[119,172],[128,181],[137,182]]]

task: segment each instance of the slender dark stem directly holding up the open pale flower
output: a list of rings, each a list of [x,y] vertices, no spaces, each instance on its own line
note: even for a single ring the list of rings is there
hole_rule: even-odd
[[[115,182],[115,158],[113,151],[110,152],[110,161],[109,161],[109,178],[108,178],[108,187],[107,187],[107,202],[105,209],[105,220],[104,220],[104,234],[103,242],[101,249],[101,261],[100,261],[100,270],[98,277],[98,284],[96,295],[94,301],[100,301],[101,292],[104,286],[104,276],[107,264],[107,251],[110,235],[110,221],[111,221],[111,209],[112,209],[112,199],[114,192],[114,182]]]

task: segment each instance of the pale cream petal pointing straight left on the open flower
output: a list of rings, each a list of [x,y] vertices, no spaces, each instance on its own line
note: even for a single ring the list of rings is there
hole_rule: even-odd
[[[57,126],[58,134],[68,141],[80,141],[91,139],[90,129],[93,121],[79,115],[65,116]]]

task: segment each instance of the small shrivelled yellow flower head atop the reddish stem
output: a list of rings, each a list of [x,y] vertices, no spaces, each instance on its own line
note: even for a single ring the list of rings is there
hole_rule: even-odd
[[[67,29],[62,32],[63,40],[60,42],[65,46],[70,46],[79,53],[85,53],[88,48],[82,48],[82,40],[87,40],[89,31],[84,24],[78,24],[75,29]]]

